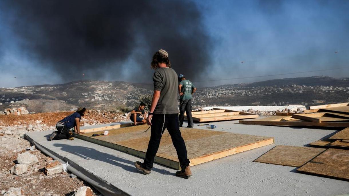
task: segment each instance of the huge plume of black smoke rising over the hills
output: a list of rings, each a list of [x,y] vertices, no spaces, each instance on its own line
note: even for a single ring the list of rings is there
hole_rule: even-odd
[[[23,54],[64,81],[82,79],[83,73],[118,80],[121,69],[129,69],[132,81],[141,82],[151,78],[151,57],[161,48],[178,74],[191,79],[210,64],[211,39],[191,1],[5,0],[2,5]]]

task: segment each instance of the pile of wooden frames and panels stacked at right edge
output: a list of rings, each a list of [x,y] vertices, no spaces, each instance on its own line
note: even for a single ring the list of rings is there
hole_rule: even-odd
[[[349,127],[349,103],[313,106],[305,112],[304,114],[293,113],[253,120],[240,120],[239,123],[300,127]]]

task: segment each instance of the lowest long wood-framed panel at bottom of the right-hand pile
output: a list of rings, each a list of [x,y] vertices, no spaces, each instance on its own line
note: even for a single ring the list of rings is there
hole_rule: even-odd
[[[269,116],[266,118],[257,118],[250,120],[240,120],[240,124],[248,125],[275,125],[275,126],[314,126],[314,127],[349,127],[349,122],[309,122],[294,119],[291,116]]]

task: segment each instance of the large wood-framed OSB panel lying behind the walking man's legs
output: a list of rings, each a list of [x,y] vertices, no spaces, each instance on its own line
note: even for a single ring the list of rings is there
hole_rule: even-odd
[[[108,136],[92,137],[100,133],[95,132],[76,137],[144,158],[151,134],[150,129],[144,132],[147,128],[147,125],[132,126],[109,130]],[[274,143],[272,137],[185,127],[180,130],[191,166]],[[167,130],[162,135],[155,162],[179,169],[177,153]]]

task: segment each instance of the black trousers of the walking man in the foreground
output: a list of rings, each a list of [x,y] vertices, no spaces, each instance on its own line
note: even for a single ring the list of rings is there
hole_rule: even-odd
[[[169,131],[172,143],[177,151],[179,164],[181,166],[188,166],[190,163],[187,157],[187,148],[179,130],[178,114],[153,114],[150,140],[143,163],[146,169],[153,168],[154,157],[159,149],[161,136],[165,128]]]

